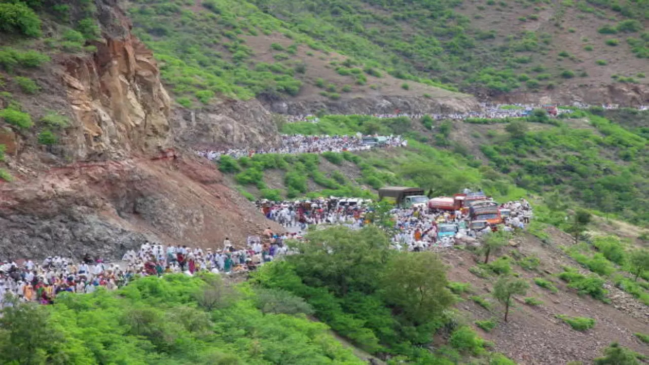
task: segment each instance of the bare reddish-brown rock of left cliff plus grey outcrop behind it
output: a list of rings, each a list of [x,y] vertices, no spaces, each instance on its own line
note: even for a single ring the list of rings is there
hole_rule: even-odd
[[[60,144],[38,145],[38,124],[31,131],[0,125],[14,175],[0,182],[0,257],[115,258],[146,241],[218,247],[226,236],[245,244],[267,220],[183,145],[271,143],[269,112],[224,103],[184,121],[184,112],[170,111],[153,55],[116,1],[95,5],[97,51],[55,55],[29,74],[42,93],[19,99],[35,119],[47,110],[69,118]]]

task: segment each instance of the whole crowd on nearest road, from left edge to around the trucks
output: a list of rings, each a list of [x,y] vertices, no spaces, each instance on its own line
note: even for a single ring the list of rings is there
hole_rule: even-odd
[[[474,242],[491,231],[522,229],[532,217],[532,208],[525,199],[500,206],[509,210],[502,225],[469,228],[465,211],[447,212],[428,208],[393,208],[391,245],[399,251],[423,251],[449,247],[458,241]],[[245,247],[234,245],[228,238],[218,249],[164,246],[147,242],[138,251],[127,251],[120,262],[104,262],[84,255],[80,262],[60,256],[47,257],[42,262],[5,260],[0,262],[0,308],[12,305],[9,297],[18,301],[53,303],[60,292],[92,293],[97,287],[116,290],[136,276],[164,275],[197,271],[236,273],[254,270],[265,262],[284,255],[295,254],[286,240],[300,240],[308,226],[345,225],[360,229],[369,223],[373,205],[366,199],[313,199],[304,201],[258,202],[258,208],[269,219],[286,227],[286,233],[265,229],[261,236],[251,236]],[[451,236],[440,238],[440,227],[453,225]]]

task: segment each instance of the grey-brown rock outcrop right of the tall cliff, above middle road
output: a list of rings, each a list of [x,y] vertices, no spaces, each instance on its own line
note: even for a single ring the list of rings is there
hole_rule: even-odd
[[[272,114],[256,99],[174,110],[175,141],[190,148],[267,147],[279,142]]]

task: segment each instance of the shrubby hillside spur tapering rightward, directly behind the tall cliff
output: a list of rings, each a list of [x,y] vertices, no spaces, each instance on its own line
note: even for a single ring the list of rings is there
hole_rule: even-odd
[[[134,31],[160,60],[163,80],[185,107],[218,97],[258,97],[290,114],[476,107],[468,95],[430,79],[399,80],[382,65],[341,55],[251,3],[160,0],[125,6]]]

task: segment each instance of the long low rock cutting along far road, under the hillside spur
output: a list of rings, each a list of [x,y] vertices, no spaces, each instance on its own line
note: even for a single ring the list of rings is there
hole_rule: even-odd
[[[392,114],[396,110],[408,114],[468,112],[478,110],[474,97],[427,98],[402,96],[367,96],[337,101],[288,101],[286,99],[264,100],[273,112],[280,114],[315,114],[326,110],[332,114]]]

